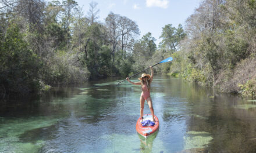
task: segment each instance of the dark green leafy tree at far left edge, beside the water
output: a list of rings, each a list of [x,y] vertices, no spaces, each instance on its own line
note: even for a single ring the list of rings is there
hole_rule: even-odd
[[[40,61],[23,40],[18,25],[11,24],[0,35],[0,89],[2,94],[28,94],[40,90],[38,71]],[[1,97],[2,98],[2,97]]]

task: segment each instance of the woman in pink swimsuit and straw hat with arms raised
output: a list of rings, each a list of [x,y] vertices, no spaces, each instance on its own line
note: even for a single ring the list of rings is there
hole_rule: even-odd
[[[155,122],[155,118],[154,118],[154,109],[153,109],[153,105],[152,105],[152,100],[151,100],[151,97],[150,97],[150,85],[151,85],[151,82],[153,80],[153,75],[154,75],[154,71],[153,71],[153,68],[150,66],[150,69],[151,69],[151,75],[149,74],[141,74],[141,77],[138,78],[140,80],[140,82],[132,82],[130,81],[129,78],[126,78],[128,82],[130,82],[131,84],[133,85],[141,85],[141,95],[140,95],[140,122],[143,121],[143,110],[144,110],[144,103],[145,103],[145,100],[147,100],[148,102],[148,105],[150,107],[150,111],[151,111],[151,114],[153,116],[153,122]]]

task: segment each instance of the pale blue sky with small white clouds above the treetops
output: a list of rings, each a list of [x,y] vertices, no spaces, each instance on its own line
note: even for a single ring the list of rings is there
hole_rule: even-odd
[[[84,15],[87,15],[89,3],[92,0],[76,0],[79,6],[83,6]],[[104,23],[110,12],[126,16],[136,21],[142,37],[151,32],[152,37],[159,39],[162,28],[166,24],[174,27],[182,24],[184,27],[187,17],[194,13],[194,9],[202,0],[94,0],[99,9],[98,21]]]

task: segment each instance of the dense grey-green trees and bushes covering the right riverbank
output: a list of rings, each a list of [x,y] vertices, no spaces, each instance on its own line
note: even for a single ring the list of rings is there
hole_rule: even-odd
[[[222,92],[255,97],[256,1],[205,0],[187,19],[172,72]]]

